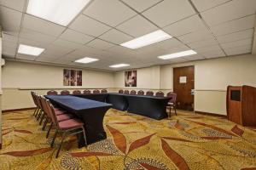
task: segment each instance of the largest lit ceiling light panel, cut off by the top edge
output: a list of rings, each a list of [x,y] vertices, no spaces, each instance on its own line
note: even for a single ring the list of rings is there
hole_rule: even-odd
[[[67,26],[90,0],[29,0],[27,14]]]

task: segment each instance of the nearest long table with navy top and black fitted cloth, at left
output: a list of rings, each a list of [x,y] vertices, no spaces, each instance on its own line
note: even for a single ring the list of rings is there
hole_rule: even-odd
[[[46,95],[54,105],[58,105],[66,111],[75,114],[84,122],[87,144],[107,139],[103,128],[103,118],[111,104],[83,99],[72,95]],[[79,148],[85,145],[84,137],[78,134]]]

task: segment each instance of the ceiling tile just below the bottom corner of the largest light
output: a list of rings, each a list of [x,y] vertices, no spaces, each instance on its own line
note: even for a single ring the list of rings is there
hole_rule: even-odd
[[[84,35],[82,33],[79,33],[77,31],[70,30],[70,29],[67,29],[66,31],[64,31],[61,34],[61,38],[65,39],[67,41],[70,41],[70,42],[77,42],[77,43],[81,43],[81,44],[85,44],[94,39],[94,37],[90,37],[90,36]]]

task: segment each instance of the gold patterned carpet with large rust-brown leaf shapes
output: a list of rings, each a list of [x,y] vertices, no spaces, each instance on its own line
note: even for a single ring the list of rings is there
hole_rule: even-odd
[[[178,112],[153,119],[109,110],[108,139],[78,149],[75,137],[61,155],[32,111],[3,114],[0,169],[255,169],[256,131],[223,118]],[[50,134],[53,136],[53,132]],[[56,144],[60,142],[57,139]]]

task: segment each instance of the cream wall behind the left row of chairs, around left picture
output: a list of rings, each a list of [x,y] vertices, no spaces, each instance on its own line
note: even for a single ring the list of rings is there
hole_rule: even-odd
[[[66,67],[65,67],[66,68]],[[113,88],[113,73],[106,71],[83,71],[83,86],[63,86],[64,67],[54,65],[37,65],[23,62],[7,61],[3,66],[3,110],[29,108],[33,106],[30,92],[46,94],[49,88]]]

